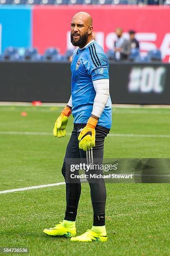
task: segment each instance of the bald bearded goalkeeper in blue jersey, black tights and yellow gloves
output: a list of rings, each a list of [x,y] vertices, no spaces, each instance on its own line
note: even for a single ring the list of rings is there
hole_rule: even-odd
[[[74,15],[70,36],[71,43],[78,47],[71,64],[71,97],[57,118],[53,131],[55,137],[65,137],[68,117],[73,115],[74,127],[62,166],[67,207],[64,220],[54,228],[46,228],[44,233],[71,238],[70,241],[104,242],[107,241],[106,189],[102,171],[93,168],[93,165],[102,164],[104,141],[111,128],[112,110],[107,57],[102,47],[92,38],[92,30],[92,17],[88,13]],[[75,220],[81,193],[79,169],[85,170],[90,184],[93,225],[84,234],[76,236]],[[93,174],[99,178],[92,178]]]

